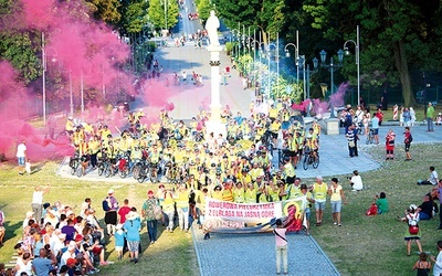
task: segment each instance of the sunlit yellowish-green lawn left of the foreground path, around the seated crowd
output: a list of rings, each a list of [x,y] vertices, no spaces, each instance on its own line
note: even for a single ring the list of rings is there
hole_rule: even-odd
[[[51,191],[44,195],[44,201],[54,203],[60,200],[64,205],[73,206],[76,212],[86,197],[92,199],[92,205],[97,211],[97,217],[103,219],[101,204],[109,188],[116,192],[115,197],[120,204],[125,198],[129,204],[141,209],[150,184],[108,184],[106,182],[87,182],[66,180],[55,176],[57,164],[48,162],[42,170],[31,177],[21,177],[10,164],[2,163],[0,171],[0,209],[7,216],[7,236],[0,250],[0,262],[8,263],[13,254],[13,246],[21,238],[22,220],[27,211],[31,210],[32,190],[36,184],[51,184]],[[101,267],[101,275],[199,275],[197,257],[190,233],[162,232],[159,226],[158,242],[148,243],[146,227],[141,231],[143,255],[138,264],[133,264],[126,257],[117,261],[114,251],[114,240],[106,246],[106,258],[115,264]],[[125,255],[127,256],[127,254]]]

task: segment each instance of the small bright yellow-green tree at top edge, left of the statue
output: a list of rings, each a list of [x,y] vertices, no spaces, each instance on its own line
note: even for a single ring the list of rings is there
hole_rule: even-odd
[[[178,23],[179,7],[175,0],[150,0],[149,21],[159,30],[170,30]]]

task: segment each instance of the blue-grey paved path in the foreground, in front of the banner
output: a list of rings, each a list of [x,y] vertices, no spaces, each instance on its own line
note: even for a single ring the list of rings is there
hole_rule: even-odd
[[[207,241],[199,230],[193,230],[192,235],[201,276],[276,275],[272,233],[212,233]],[[291,233],[287,240],[288,275],[339,275],[312,236]]]

